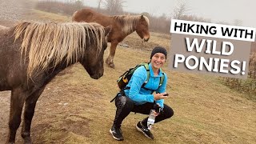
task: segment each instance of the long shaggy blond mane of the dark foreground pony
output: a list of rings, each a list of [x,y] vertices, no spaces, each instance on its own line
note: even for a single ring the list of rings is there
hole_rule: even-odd
[[[105,37],[103,26],[98,23],[21,22],[15,26],[14,38],[22,38],[21,56],[24,62],[28,56],[27,74],[31,78],[63,60],[67,65],[78,62],[85,54],[86,38],[93,38],[98,44],[98,57]]]

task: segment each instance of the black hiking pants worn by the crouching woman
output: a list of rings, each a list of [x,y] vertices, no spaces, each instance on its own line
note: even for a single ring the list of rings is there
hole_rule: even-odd
[[[134,102],[126,97],[124,94],[119,94],[115,98],[115,106],[117,107],[115,118],[114,118],[114,124],[113,126],[121,127],[123,119],[125,119],[130,112],[140,113],[140,114],[150,114],[150,110],[154,108],[154,103],[146,102],[143,105],[135,105]],[[166,118],[170,118],[174,115],[174,110],[170,108],[170,106],[167,106],[164,104],[163,107],[163,113],[159,114],[155,118],[155,122],[160,122]],[[148,117],[147,117],[148,118]],[[142,125],[146,126],[147,118],[142,120]]]

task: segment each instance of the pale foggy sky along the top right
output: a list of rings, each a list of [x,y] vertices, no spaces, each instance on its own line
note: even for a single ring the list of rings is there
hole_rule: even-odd
[[[84,0],[86,6],[97,7],[98,0]],[[179,0],[126,0],[124,10],[128,12],[148,12],[154,16],[170,15]],[[190,14],[209,18],[211,22],[234,23],[235,19],[242,21],[242,26],[256,27],[255,0],[184,0],[190,9]]]

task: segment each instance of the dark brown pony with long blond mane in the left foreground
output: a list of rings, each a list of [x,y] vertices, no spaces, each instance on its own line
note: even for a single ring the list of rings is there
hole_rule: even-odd
[[[102,77],[109,31],[86,22],[21,22],[1,30],[0,91],[11,90],[7,143],[15,142],[24,104],[22,138],[31,143],[36,102],[46,84],[67,66],[80,62],[91,78]]]

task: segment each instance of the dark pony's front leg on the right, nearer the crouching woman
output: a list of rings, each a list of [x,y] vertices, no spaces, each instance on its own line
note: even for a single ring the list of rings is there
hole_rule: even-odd
[[[42,94],[42,91],[46,86],[43,86],[41,89],[36,90],[33,94],[31,94],[28,98],[26,98],[26,104],[24,109],[24,121],[22,125],[22,138],[24,139],[24,143],[32,143],[30,137],[30,127],[32,118],[34,116],[34,108],[38,101],[38,98]]]

